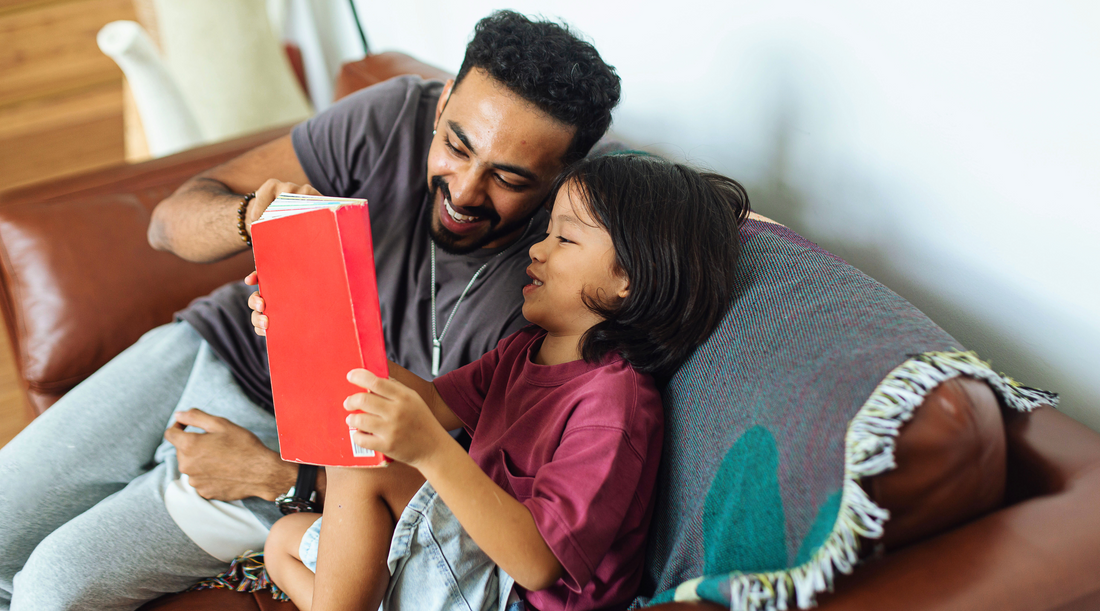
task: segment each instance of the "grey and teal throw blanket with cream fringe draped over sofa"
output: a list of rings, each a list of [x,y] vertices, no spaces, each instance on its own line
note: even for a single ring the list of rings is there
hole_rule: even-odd
[[[814,604],[888,512],[860,478],[894,467],[901,426],[939,383],[986,380],[1030,411],[1050,393],[993,373],[920,310],[794,232],[743,228],[739,294],[664,394],[664,458],[635,607]]]

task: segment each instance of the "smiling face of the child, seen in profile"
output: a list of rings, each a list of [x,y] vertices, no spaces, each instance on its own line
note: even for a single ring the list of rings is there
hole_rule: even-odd
[[[607,231],[588,214],[576,185],[558,190],[547,237],[530,249],[524,286],[524,317],[551,335],[576,335],[603,320],[584,305],[627,296],[629,282],[616,273],[615,248]]]

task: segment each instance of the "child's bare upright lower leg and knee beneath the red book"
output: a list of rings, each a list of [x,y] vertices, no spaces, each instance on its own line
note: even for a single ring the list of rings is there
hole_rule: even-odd
[[[394,527],[424,476],[399,462],[327,472],[311,611],[377,609],[389,583],[386,558]]]

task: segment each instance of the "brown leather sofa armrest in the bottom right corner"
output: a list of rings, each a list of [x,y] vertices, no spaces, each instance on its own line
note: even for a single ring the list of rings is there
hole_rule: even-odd
[[[820,608],[1100,608],[1100,435],[1052,407],[1005,423],[1009,480],[1041,497],[867,563]]]

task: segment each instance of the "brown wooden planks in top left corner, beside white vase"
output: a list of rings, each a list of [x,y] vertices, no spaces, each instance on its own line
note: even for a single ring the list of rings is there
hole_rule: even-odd
[[[131,0],[0,0],[0,188],[124,160],[122,72],[96,45]]]

